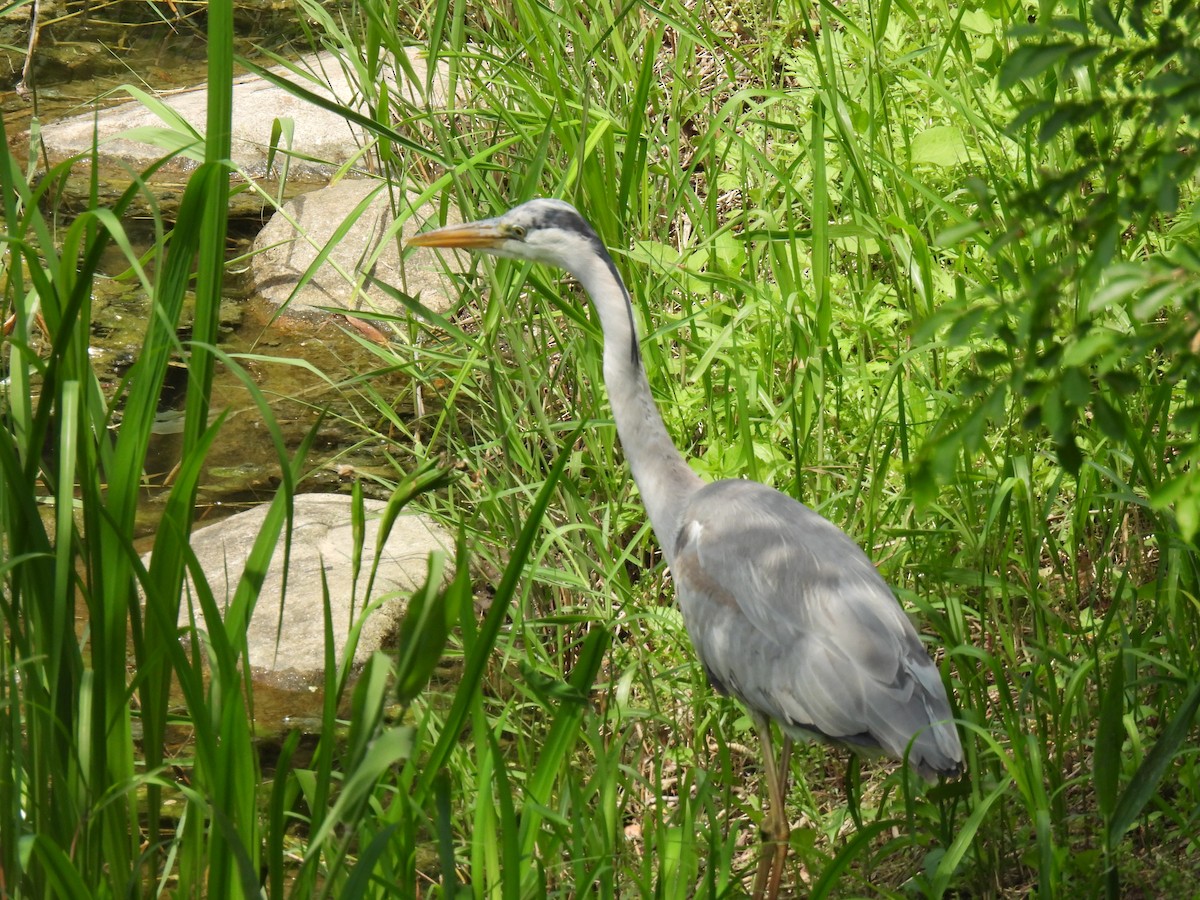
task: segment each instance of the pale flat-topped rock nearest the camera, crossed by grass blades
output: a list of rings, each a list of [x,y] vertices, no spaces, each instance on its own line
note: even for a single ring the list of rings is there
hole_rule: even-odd
[[[329,589],[334,652],[341,664],[353,623],[376,600],[383,600],[366,618],[354,653],[354,665],[366,662],[395,634],[407,607],[407,598],[425,583],[431,552],[452,552],[455,542],[444,528],[426,516],[401,515],[380,554],[371,595],[365,596],[371,560],[374,558],[382,500],[364,500],[366,528],[362,570],[358,584],[352,577],[354,535],[352,500],[344,494],[298,494],[294,498],[292,554],[283,577],[283,536],[263,582],[246,641],[250,667],[256,679],[274,686],[319,686],[325,677],[325,593]],[[233,599],[246,566],[246,557],[266,518],[268,506],[240,512],[192,535],[196,552],[217,604]],[[149,554],[148,554],[149,556]],[[146,557],[148,558],[148,557]],[[187,604],[179,624],[191,624]],[[197,625],[203,616],[196,611]]]

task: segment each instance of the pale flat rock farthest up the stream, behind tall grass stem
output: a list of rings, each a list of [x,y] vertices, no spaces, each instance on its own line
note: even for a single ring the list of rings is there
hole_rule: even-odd
[[[439,65],[431,80],[426,62],[415,48],[408,52],[408,65],[416,78],[409,80],[402,70],[394,70],[386,79],[394,94],[421,107],[426,103],[436,109],[445,107],[449,68]],[[329,52],[312,54],[300,59],[295,66],[313,73],[313,77],[296,74],[286,66],[275,66],[270,71],[325,100],[364,112],[361,95],[347,78],[346,67],[337,55]],[[431,85],[427,97],[426,84]],[[209,103],[205,85],[157,100],[170,115],[179,116],[203,134]],[[328,180],[368,140],[365,130],[344,116],[293,96],[258,76],[241,76],[234,79],[233,85],[232,158],[242,173],[256,180],[280,174],[280,156],[272,163],[274,173],[268,172],[266,166],[271,127],[276,119],[290,119],[294,124],[289,181]],[[162,118],[136,101],[61,119],[46,125],[41,132],[52,164],[77,154],[90,156],[92,140],[98,139],[104,162],[136,170],[146,168],[168,150],[190,143],[185,133],[185,128],[168,126]],[[156,173],[154,181],[178,180],[180,175],[186,175],[199,164],[196,154],[194,150],[179,154]]]

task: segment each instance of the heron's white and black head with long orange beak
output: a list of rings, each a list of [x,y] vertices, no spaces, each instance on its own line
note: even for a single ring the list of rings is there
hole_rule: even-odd
[[[458,247],[509,259],[557,265],[572,275],[589,257],[608,254],[587,220],[565,200],[536,199],[503,216],[446,226],[414,235],[418,247]]]

